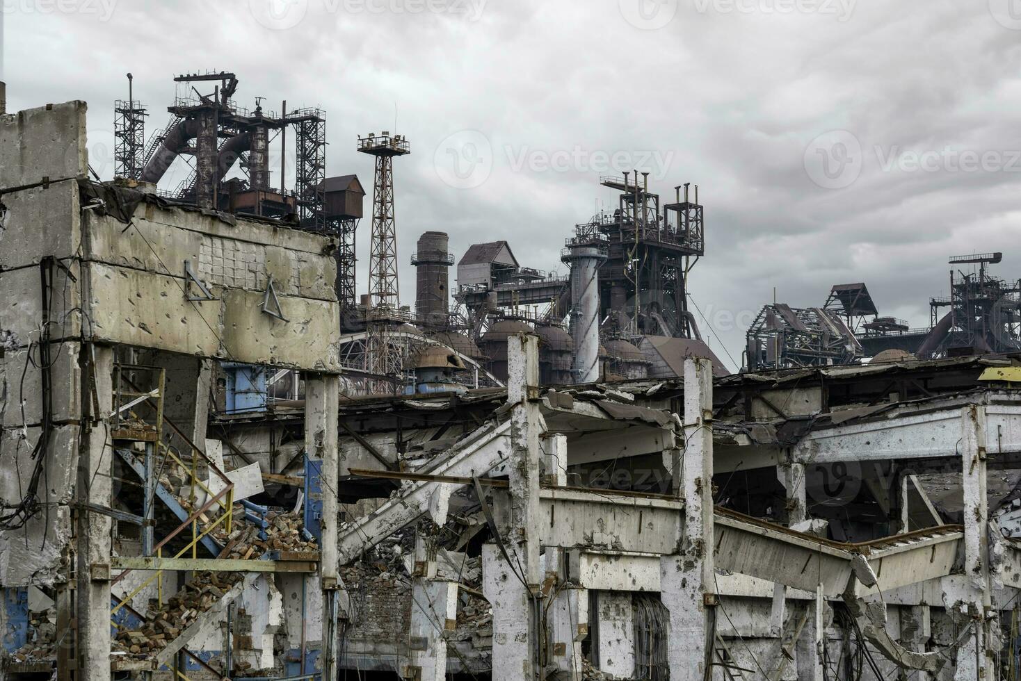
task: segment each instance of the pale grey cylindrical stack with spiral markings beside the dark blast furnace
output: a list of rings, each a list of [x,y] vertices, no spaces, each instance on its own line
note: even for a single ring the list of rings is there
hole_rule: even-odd
[[[606,255],[595,246],[572,246],[568,258],[575,381],[594,383],[599,380],[599,264]]]

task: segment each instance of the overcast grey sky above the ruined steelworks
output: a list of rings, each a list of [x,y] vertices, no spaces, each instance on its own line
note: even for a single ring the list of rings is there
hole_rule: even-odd
[[[427,229],[458,257],[505,239],[522,264],[566,271],[572,226],[616,205],[599,175],[632,167],[667,196],[699,185],[690,290],[731,368],[774,286],[819,306],[864,280],[920,326],[947,256],[1004,251],[996,271],[1021,275],[1021,0],[2,2],[8,111],[86,100],[104,178],[129,70],[147,135],[186,71],[233,70],[246,106],[322,107],[328,173],[370,195],[357,135],[405,135],[402,303]]]

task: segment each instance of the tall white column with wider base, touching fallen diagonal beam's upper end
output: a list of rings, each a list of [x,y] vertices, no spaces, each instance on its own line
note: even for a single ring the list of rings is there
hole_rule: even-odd
[[[503,537],[508,565],[497,546],[486,546],[486,597],[493,606],[493,681],[534,679],[537,632],[533,597],[539,593],[539,345],[534,335],[507,338],[510,410],[510,525]],[[495,555],[494,555],[495,552]]]

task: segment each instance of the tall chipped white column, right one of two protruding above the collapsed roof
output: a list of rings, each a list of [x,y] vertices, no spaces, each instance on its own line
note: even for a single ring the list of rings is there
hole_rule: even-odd
[[[679,553],[660,561],[663,605],[670,611],[671,681],[702,681],[711,608],[717,600],[713,564],[713,364],[684,362],[681,496],[686,500]]]

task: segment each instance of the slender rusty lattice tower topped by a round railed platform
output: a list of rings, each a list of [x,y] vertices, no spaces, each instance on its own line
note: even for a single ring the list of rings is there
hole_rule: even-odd
[[[370,308],[366,369],[389,379],[393,387],[403,370],[400,350],[387,338],[387,328],[399,320],[397,293],[397,229],[393,210],[393,157],[409,154],[407,140],[384,132],[358,138],[358,151],[376,157],[373,181],[373,233],[369,257]]]

